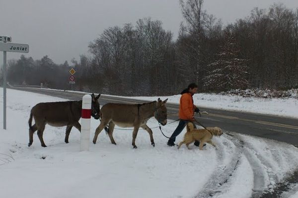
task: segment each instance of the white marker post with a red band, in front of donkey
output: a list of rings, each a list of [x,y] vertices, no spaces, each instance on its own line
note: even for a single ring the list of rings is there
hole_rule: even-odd
[[[91,96],[85,95],[82,100],[80,150],[89,150],[91,119]]]

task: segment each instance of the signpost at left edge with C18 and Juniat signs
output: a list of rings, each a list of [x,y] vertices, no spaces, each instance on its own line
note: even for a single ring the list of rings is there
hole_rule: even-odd
[[[21,53],[29,52],[29,46],[27,44],[6,42],[11,42],[11,37],[0,36],[0,51],[3,51],[3,129],[6,129],[6,51]]]

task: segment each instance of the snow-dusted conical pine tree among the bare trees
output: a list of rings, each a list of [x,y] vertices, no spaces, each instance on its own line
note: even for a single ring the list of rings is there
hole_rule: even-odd
[[[210,71],[204,78],[204,86],[213,91],[246,88],[249,84],[246,80],[247,60],[238,58],[239,49],[234,37],[229,32],[224,34],[224,45],[217,53],[218,60],[208,65]]]

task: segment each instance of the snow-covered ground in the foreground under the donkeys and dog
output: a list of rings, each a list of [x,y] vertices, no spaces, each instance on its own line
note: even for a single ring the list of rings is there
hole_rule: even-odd
[[[214,139],[218,149],[207,145],[201,151],[167,147],[158,129],[153,130],[155,148],[148,133],[140,130],[138,149],[133,149],[132,133],[115,130],[117,146],[102,132],[96,145],[90,140],[90,151],[79,152],[76,129],[65,144],[65,128],[47,126],[48,147],[42,148],[35,134],[28,148],[31,107],[64,99],[15,90],[7,90],[7,97],[7,130],[0,130],[3,198],[250,198],[272,192],[298,168],[298,148],[230,132]],[[0,112],[1,108],[2,100]],[[90,139],[98,124],[92,119]],[[157,121],[149,120],[150,127],[156,125]],[[176,123],[163,130],[170,134],[175,127]],[[181,139],[182,135],[177,142]],[[283,195],[297,198],[296,191]]]

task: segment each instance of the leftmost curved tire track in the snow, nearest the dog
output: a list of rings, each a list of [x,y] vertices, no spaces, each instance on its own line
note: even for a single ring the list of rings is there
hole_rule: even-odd
[[[222,136],[222,138],[224,138],[224,136]],[[225,140],[229,141],[230,144],[234,145],[229,139],[225,138]],[[223,164],[224,146],[225,144],[217,145],[217,156],[219,159],[219,165]],[[210,198],[218,193],[221,193],[221,187],[223,185],[225,186],[225,188],[227,187],[226,184],[229,183],[229,178],[233,175],[238,165],[240,164],[241,153],[238,147],[234,147],[233,154],[230,158],[230,162],[227,165],[225,165],[224,167],[219,166],[213,172],[210,179],[204,185],[203,190],[199,192],[194,198]]]

